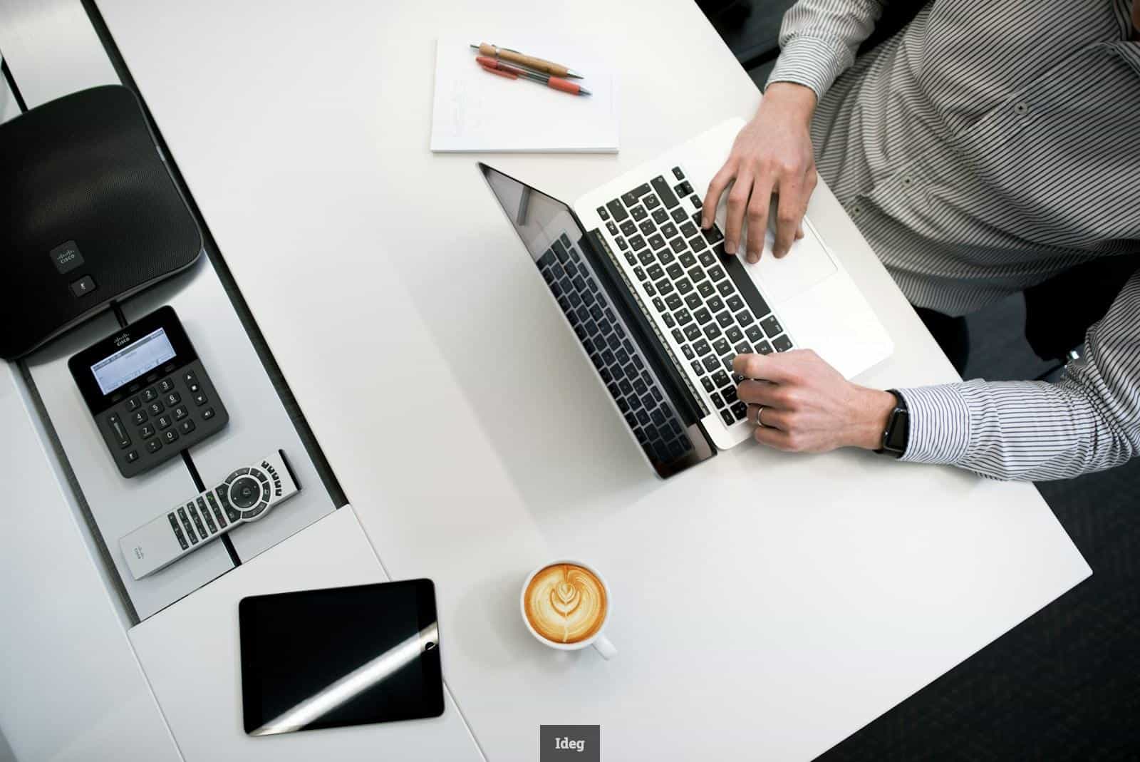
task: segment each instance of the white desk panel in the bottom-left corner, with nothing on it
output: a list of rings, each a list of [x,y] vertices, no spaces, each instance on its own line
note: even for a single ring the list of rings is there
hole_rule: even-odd
[[[0,363],[0,733],[21,761],[178,762],[15,376]]]

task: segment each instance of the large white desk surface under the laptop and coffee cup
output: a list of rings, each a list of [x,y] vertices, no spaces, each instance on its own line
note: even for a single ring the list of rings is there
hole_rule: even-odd
[[[689,0],[99,8],[385,568],[435,581],[488,759],[540,723],[601,723],[610,760],[808,759],[1090,573],[1027,485],[755,446],[650,476],[475,157],[429,152],[432,62],[538,29],[614,60],[618,155],[490,159],[569,201],[754,111]],[[809,213],[896,343],[862,380],[953,379],[822,185]],[[519,622],[561,556],[611,582],[612,662]]]

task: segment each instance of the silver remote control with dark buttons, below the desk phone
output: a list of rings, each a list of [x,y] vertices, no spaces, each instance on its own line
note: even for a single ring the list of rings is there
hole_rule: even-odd
[[[256,521],[299,492],[301,485],[278,449],[144,524],[120,538],[119,548],[131,574],[141,579],[234,527]]]

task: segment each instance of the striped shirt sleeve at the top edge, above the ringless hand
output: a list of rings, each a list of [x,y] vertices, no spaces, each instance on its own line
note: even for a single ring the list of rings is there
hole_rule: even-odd
[[[886,0],[800,0],[784,14],[780,58],[768,76],[795,82],[822,98],[855,60],[860,43],[871,35]]]

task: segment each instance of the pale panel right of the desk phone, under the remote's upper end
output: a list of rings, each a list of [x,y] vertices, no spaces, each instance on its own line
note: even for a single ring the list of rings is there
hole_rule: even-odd
[[[128,321],[136,321],[163,305],[178,313],[229,412],[229,423],[222,431],[190,448],[206,487],[277,449],[285,451],[301,485],[301,494],[272,509],[263,520],[229,534],[238,558],[249,561],[332,512],[333,501],[206,257],[189,271],[127,300],[123,314]]]

